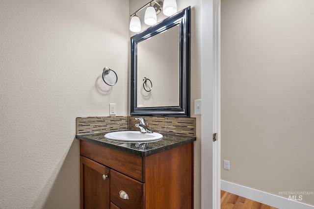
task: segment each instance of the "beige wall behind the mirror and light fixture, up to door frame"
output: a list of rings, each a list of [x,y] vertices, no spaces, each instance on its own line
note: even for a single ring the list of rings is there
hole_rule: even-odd
[[[147,3],[146,0],[130,0],[130,15]],[[201,98],[201,0],[177,0],[178,11],[191,6],[191,117],[196,118],[196,141],[194,142],[194,208],[201,208],[201,116],[194,116],[194,99]],[[147,28],[144,23],[145,10],[138,13],[142,30]],[[157,21],[166,18],[157,16]],[[130,18],[131,20],[131,18]],[[130,37],[135,33],[130,31]]]

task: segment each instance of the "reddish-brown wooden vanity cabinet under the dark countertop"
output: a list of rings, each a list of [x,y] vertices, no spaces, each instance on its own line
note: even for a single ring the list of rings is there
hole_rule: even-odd
[[[193,150],[140,157],[80,140],[81,209],[193,209]]]

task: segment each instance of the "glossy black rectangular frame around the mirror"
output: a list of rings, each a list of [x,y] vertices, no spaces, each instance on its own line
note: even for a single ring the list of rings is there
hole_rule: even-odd
[[[191,7],[131,37],[131,116],[190,116],[190,34]],[[180,97],[179,106],[137,107],[137,44],[175,25],[180,27]]]

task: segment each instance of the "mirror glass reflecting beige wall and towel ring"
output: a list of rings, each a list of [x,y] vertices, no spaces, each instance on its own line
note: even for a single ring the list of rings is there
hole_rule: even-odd
[[[137,107],[179,106],[179,29],[175,25],[137,44]]]

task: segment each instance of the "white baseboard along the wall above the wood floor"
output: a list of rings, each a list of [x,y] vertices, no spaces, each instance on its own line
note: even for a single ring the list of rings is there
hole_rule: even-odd
[[[254,200],[256,202],[260,202],[278,209],[314,209],[314,206],[310,206],[293,200],[288,200],[284,197],[269,194],[263,191],[226,182],[223,180],[220,181],[220,188],[223,191],[227,191],[235,195]]]

